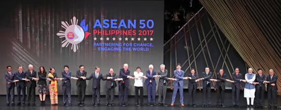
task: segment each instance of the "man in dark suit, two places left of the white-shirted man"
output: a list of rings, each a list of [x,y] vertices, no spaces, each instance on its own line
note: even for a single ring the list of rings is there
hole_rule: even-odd
[[[113,71],[113,68],[109,69],[109,73],[107,74],[107,78],[110,78],[106,82],[106,100],[107,104],[106,105],[114,105],[114,91],[115,88],[117,87],[116,85],[116,80],[121,80],[121,79],[116,79],[116,74]],[[111,97],[109,97],[109,95]],[[110,99],[111,98],[111,99]]]

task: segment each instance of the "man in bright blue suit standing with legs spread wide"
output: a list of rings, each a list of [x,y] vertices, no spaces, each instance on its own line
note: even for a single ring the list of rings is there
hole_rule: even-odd
[[[171,106],[173,106],[175,96],[177,96],[178,88],[180,91],[180,101],[181,105],[184,105],[184,80],[187,80],[188,77],[184,77],[185,72],[181,69],[182,65],[179,63],[177,64],[177,70],[173,71],[175,81],[173,82],[173,93],[172,93],[172,103]]]

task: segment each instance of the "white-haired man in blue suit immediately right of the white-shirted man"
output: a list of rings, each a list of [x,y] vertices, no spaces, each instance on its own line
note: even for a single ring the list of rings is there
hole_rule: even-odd
[[[145,85],[147,86],[147,94],[148,94],[148,105],[151,102],[151,94],[152,94],[152,101],[153,105],[156,105],[155,100],[155,89],[156,89],[156,81],[154,78],[158,78],[159,76],[156,75],[156,71],[153,70],[153,65],[149,65],[149,70],[146,71],[147,78],[145,81]]]

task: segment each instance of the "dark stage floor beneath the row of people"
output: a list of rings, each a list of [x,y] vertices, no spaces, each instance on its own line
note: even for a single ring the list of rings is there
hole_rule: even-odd
[[[99,110],[99,109],[110,109],[110,110],[115,110],[115,109],[118,109],[118,110],[125,110],[125,109],[130,109],[130,110],[133,110],[133,109],[151,109],[151,110],[164,110],[164,109],[239,109],[239,108],[236,108],[236,107],[231,107],[232,105],[232,100],[231,100],[231,90],[226,90],[225,91],[225,99],[224,99],[224,104],[225,104],[225,107],[217,107],[217,95],[216,95],[216,91],[215,90],[212,90],[211,92],[211,105],[212,107],[207,107],[206,104],[204,107],[202,107],[202,91],[199,91],[197,90],[197,93],[196,93],[196,105],[197,107],[192,107],[192,106],[187,106],[187,100],[188,100],[188,90],[187,89],[184,89],[184,104],[185,106],[183,107],[180,107],[179,105],[181,104],[180,103],[180,93],[178,92],[177,94],[177,97],[175,99],[175,102],[174,102],[174,106],[170,106],[171,104],[171,97],[172,97],[172,90],[167,90],[167,94],[166,94],[166,105],[168,106],[162,106],[162,105],[158,105],[158,97],[156,96],[156,104],[157,105],[154,105],[154,106],[149,106],[147,105],[147,96],[144,96],[144,103],[145,105],[140,105],[140,106],[136,106],[135,105],[135,99],[134,99],[134,96],[129,96],[128,97],[128,105],[127,106],[119,106],[119,101],[118,101],[118,96],[115,96],[114,98],[114,103],[115,105],[114,106],[107,106],[106,105],[106,96],[105,95],[102,95],[100,97],[100,103],[101,103],[101,106],[92,106],[92,96],[91,95],[87,95],[85,97],[85,106],[78,106],[76,105],[77,104],[77,100],[78,100],[78,96],[77,95],[73,95],[72,96],[72,105],[67,105],[67,106],[64,106],[62,105],[63,102],[62,102],[62,95],[59,95],[58,96],[58,104],[55,105],[55,106],[51,106],[50,105],[50,96],[47,95],[46,96],[46,105],[45,106],[41,106],[41,105],[35,105],[35,106],[32,106],[32,105],[25,105],[25,106],[6,106],[6,95],[0,95],[0,107],[1,109],[21,109],[21,110],[24,110],[24,109],[37,109],[37,110],[45,110],[45,109],[55,109],[55,110],[58,110],[58,109],[96,109],[96,110]],[[247,100],[246,98],[243,97],[243,91],[241,91],[240,93],[240,97],[239,97],[239,100],[240,100],[240,108],[241,109],[276,109],[274,108],[273,106],[271,108],[267,108],[268,106],[268,100],[267,100],[267,92],[265,93],[265,102],[264,102],[264,108],[260,108],[260,107],[250,107],[250,108],[247,108],[246,105],[247,105]],[[40,104],[40,98],[39,98],[39,95],[36,95],[36,104]],[[66,100],[66,102],[68,102]],[[17,96],[15,96],[15,103],[17,103]],[[67,103],[68,104],[68,103]],[[254,102],[254,105],[256,103]],[[277,104],[280,106],[281,105],[281,96],[277,96]],[[280,108],[281,109],[281,108]]]

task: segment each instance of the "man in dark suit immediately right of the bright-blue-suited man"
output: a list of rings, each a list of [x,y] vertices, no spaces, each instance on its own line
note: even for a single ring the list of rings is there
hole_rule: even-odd
[[[195,104],[195,93],[196,93],[196,89],[197,89],[197,82],[199,81],[199,79],[197,79],[197,74],[195,73],[195,69],[194,68],[191,68],[191,73],[187,76],[188,79],[189,79],[189,82],[188,82],[188,103],[187,103],[187,106],[189,106],[190,104],[190,101],[192,99],[192,105],[194,107],[196,107],[196,104]]]

